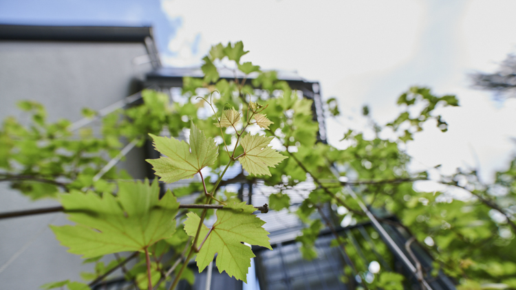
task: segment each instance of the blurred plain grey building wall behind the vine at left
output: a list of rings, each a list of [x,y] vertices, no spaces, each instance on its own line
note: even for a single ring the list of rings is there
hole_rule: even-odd
[[[146,54],[142,43],[0,41],[0,120],[22,117],[16,102],[28,99],[44,104],[50,121],[79,120],[83,107],[103,109],[134,93],[134,81],[151,69],[142,62]],[[120,166],[140,178],[145,173],[143,159],[143,150],[133,149]],[[0,183],[0,212],[50,205],[57,202],[32,202]],[[50,223],[67,220],[58,213],[0,221],[0,289],[80,281],[80,271],[92,270],[58,244],[47,227]]]

